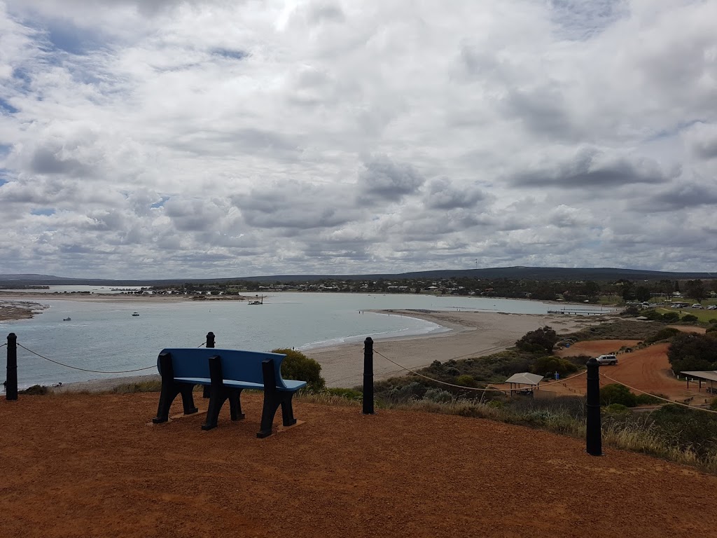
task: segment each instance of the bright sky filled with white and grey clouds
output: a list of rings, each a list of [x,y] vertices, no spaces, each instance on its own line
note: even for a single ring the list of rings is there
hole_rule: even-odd
[[[0,274],[717,267],[717,1],[0,0]]]

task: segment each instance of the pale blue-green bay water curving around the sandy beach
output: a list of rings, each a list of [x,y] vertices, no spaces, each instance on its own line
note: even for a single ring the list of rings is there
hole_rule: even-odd
[[[265,298],[262,306],[242,301],[32,301],[49,308],[29,320],[0,322],[0,344],[6,341],[7,334],[14,332],[18,344],[27,348],[18,349],[20,388],[155,374],[161,349],[201,346],[209,331],[214,332],[219,348],[310,349],[363,341],[366,336],[380,339],[447,330],[428,321],[369,310],[414,308],[541,314],[560,308],[510,299],[342,293],[277,293]],[[133,317],[135,311],[140,315]],[[67,317],[72,321],[62,321]],[[4,363],[4,349],[0,349],[0,357]],[[107,373],[84,372],[50,361]],[[144,367],[149,369],[129,372]],[[5,378],[4,374],[0,373],[0,379]]]

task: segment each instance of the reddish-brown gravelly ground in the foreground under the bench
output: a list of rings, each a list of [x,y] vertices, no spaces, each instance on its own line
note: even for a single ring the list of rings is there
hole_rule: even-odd
[[[303,424],[260,440],[258,395],[210,432],[148,425],[157,400],[0,400],[2,535],[717,537],[716,476],[584,440],[302,401]]]

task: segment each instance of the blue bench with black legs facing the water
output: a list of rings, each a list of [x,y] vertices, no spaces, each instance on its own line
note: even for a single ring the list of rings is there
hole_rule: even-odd
[[[209,387],[209,409],[202,430],[217,427],[219,411],[229,400],[232,420],[244,418],[240,396],[244,389],[264,391],[264,408],[258,438],[272,433],[274,416],[281,406],[283,424],[294,425],[292,398],[294,393],[306,386],[305,381],[282,379],[281,362],[286,355],[262,351],[239,351],[237,349],[214,348],[169,348],[163,349],[157,358],[157,369],[162,376],[162,390],[159,396],[155,424],[165,423],[169,407],[181,395],[184,414],[197,412],[194,407],[194,385]]]

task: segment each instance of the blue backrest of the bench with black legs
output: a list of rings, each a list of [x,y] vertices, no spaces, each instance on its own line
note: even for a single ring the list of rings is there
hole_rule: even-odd
[[[160,354],[162,353],[171,354],[174,377],[209,377],[209,357],[218,355],[222,358],[224,379],[259,384],[264,383],[262,362],[273,360],[276,386],[286,388],[281,377],[281,363],[286,357],[284,354],[212,347],[166,348],[160,351]],[[157,369],[161,374],[159,359]]]

